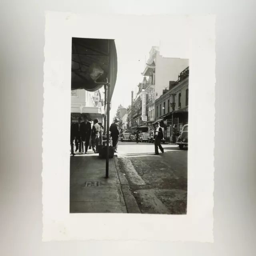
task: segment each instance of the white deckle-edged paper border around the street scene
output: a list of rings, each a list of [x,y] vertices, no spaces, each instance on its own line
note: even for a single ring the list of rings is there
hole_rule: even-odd
[[[145,36],[161,40],[162,56],[189,59],[187,214],[70,214],[72,37],[115,39],[118,45],[119,38]],[[46,12],[44,56],[43,241],[213,242],[215,16]]]

